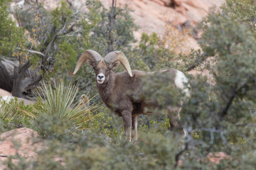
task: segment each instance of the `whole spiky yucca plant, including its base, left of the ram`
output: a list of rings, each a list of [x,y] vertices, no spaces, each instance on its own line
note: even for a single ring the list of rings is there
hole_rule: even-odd
[[[35,118],[35,126],[44,135],[62,134],[70,128],[84,130],[88,121],[97,115],[92,114],[100,106],[94,105],[89,108],[82,108],[75,102],[78,88],[63,82],[51,84],[42,83],[38,88],[37,102],[32,106],[32,112],[27,115]],[[50,132],[50,133],[49,133]]]

